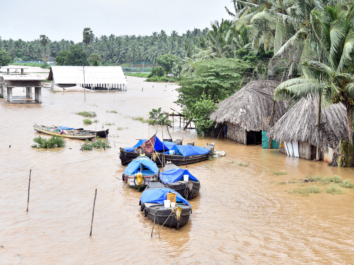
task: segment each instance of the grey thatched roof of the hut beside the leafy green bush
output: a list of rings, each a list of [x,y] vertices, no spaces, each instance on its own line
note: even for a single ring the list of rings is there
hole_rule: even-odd
[[[210,119],[217,123],[229,122],[238,124],[247,131],[262,130],[263,117],[272,112],[275,87],[273,80],[252,81],[235,94],[218,103],[219,107],[210,114]],[[275,103],[274,122],[286,112],[286,102]]]

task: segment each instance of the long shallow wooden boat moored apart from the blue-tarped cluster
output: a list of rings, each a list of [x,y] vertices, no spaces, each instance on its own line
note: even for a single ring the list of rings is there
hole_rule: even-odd
[[[73,129],[68,127],[44,126],[44,125],[37,125],[37,124],[33,125],[33,128],[42,134],[57,135],[57,136],[62,136],[71,139],[79,139],[79,140],[86,140],[86,139],[90,140],[95,138],[96,135],[102,138],[107,138],[109,133],[108,132],[109,129],[96,132],[96,131],[84,130],[83,128]],[[68,130],[61,129],[61,128],[67,128]]]

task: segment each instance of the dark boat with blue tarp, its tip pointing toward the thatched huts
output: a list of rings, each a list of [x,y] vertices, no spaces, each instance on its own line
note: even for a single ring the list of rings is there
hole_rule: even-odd
[[[212,150],[214,150],[213,143],[204,147],[192,145],[174,146],[170,150],[175,151],[174,154],[170,154],[170,152],[159,153],[158,157],[155,158],[155,163],[157,166],[164,166],[168,161],[176,166],[194,164],[206,160]]]

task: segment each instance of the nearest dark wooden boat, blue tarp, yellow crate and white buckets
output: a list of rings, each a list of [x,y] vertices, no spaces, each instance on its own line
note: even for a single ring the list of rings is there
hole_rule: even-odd
[[[167,188],[166,185],[159,181],[150,181],[144,192],[140,196],[140,211],[144,212],[144,216],[150,220],[164,225],[169,228],[180,228],[188,223],[192,208],[187,200],[180,194],[177,194],[176,207],[166,208],[163,200],[166,200],[167,193],[173,190]],[[179,214],[180,212],[180,214]]]

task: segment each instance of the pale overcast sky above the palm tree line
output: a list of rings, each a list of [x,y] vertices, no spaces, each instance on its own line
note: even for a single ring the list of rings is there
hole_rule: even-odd
[[[210,28],[214,20],[231,19],[230,0],[17,0],[1,4],[2,40],[32,41],[45,34],[52,41],[82,41],[82,31],[93,34],[151,35],[162,29],[179,35],[194,28]]]

